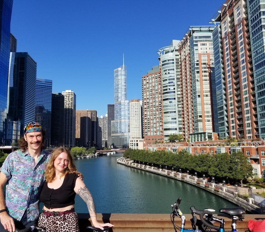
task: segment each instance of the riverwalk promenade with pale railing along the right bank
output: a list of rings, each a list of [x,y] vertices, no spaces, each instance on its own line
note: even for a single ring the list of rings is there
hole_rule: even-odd
[[[232,187],[232,186],[219,185],[219,184],[207,182],[207,179],[197,178],[196,176],[187,175],[187,174],[183,174],[183,173],[171,171],[171,170],[158,169],[156,167],[142,165],[139,163],[134,163],[133,161],[128,161],[123,157],[119,157],[117,159],[117,162],[123,165],[126,165],[126,166],[136,168],[136,169],[153,172],[159,175],[167,176],[169,178],[177,179],[177,180],[184,181],[186,183],[195,185],[199,188],[202,188],[206,191],[209,191],[213,194],[223,197],[227,199],[228,201],[231,201],[237,204],[238,206],[243,206],[246,208],[246,210],[248,210],[251,213],[262,214],[262,210],[265,210],[264,205],[254,201],[253,198],[241,195],[240,191],[242,191],[242,188],[240,187],[237,187],[236,189],[237,191],[236,191],[235,187]]]

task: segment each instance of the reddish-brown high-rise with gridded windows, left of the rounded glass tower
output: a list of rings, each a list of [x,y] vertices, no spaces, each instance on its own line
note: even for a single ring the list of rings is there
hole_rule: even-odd
[[[143,136],[145,140],[164,141],[162,81],[159,65],[142,76]]]

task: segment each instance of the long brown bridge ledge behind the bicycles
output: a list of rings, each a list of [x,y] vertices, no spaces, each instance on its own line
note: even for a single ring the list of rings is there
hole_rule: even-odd
[[[173,224],[170,220],[170,214],[136,214],[136,213],[98,213],[98,221],[110,222],[114,225],[111,232],[126,232],[126,231],[138,231],[138,232],[152,232],[152,231],[170,231],[174,232]],[[217,217],[222,217],[215,215]],[[191,227],[191,215],[185,214],[186,229],[192,229]],[[89,214],[79,213],[78,220],[80,225],[80,232],[88,231],[86,226],[91,225],[88,220]],[[226,220],[225,230],[231,230],[232,220],[223,217]],[[238,232],[248,231],[248,221],[252,220],[265,220],[265,215],[247,214],[243,221],[237,221]],[[175,223],[181,225],[181,220],[175,217]],[[218,224],[216,224],[218,225]]]

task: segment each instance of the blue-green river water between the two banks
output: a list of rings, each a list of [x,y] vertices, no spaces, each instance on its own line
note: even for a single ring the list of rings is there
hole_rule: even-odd
[[[206,190],[183,181],[138,170],[117,163],[117,157],[100,156],[75,160],[87,188],[92,193],[99,213],[171,213],[171,204],[182,197],[180,208],[203,210],[235,207],[236,205]],[[75,210],[87,213],[86,203],[76,195]]]

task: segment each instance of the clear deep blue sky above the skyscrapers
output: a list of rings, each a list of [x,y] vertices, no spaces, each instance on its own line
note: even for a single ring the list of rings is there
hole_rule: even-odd
[[[37,62],[53,92],[72,89],[77,110],[105,115],[114,104],[113,70],[127,66],[127,99],[142,99],[142,76],[157,50],[190,25],[208,25],[224,0],[14,0],[11,33],[17,51]]]

